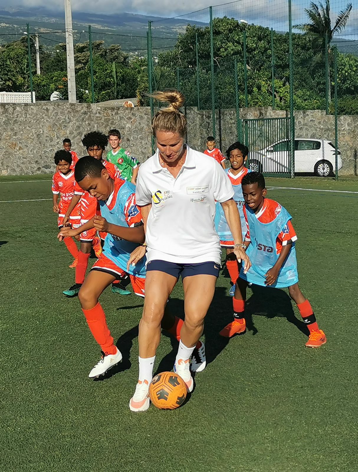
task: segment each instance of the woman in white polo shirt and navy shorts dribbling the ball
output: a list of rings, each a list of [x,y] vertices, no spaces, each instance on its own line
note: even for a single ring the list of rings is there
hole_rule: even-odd
[[[152,119],[158,149],[141,165],[136,186],[146,243],[137,248],[129,263],[135,264],[147,251],[147,276],[139,323],[139,380],[129,404],[132,411],[149,408],[148,388],[160,322],[179,276],[183,280],[185,321],[175,371],[190,392],[193,388],[189,361],[203,332],[221,262],[214,225],[215,202],[223,206],[236,257],[242,259],[245,270],[250,267],[230,180],[216,160],[185,144],[186,118],[179,111],[183,95],[177,91],[158,92],[154,98],[168,102],[169,107],[159,110]]]

